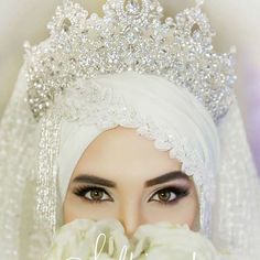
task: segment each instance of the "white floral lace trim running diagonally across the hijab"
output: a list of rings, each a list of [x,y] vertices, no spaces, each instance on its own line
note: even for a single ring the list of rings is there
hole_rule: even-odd
[[[214,173],[205,169],[202,156],[189,147],[187,138],[170,130],[163,122],[155,123],[151,116],[142,116],[122,96],[117,96],[112,88],[105,88],[91,79],[75,82],[71,89],[56,99],[53,115],[59,115],[61,119],[69,121],[78,120],[80,124],[95,123],[102,130],[118,124],[136,128],[140,136],[153,140],[156,149],[169,151],[170,158],[180,160],[182,170],[193,176],[199,186],[202,223],[207,223],[208,229],[210,218],[206,215],[210,215],[210,210],[207,209],[207,214],[205,207],[208,208],[206,204],[214,201]]]

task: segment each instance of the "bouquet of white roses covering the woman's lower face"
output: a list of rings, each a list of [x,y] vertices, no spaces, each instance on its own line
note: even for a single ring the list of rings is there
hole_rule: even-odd
[[[45,260],[226,260],[187,225],[139,226],[131,239],[117,219],[76,219],[59,228]]]

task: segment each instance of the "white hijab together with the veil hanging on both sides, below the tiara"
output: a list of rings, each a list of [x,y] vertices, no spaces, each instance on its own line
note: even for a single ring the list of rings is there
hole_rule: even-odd
[[[55,193],[55,178],[48,183],[48,174],[57,174],[64,199],[84,150],[99,133],[117,124],[134,127],[153,139],[156,149],[169,150],[170,156],[180,159],[183,170],[194,175],[195,183],[203,184],[201,224],[205,231],[212,230],[217,247],[252,260],[260,258],[260,185],[236,98],[215,126],[186,90],[161,77],[132,72],[78,80],[55,100],[40,123],[34,122],[25,96],[22,67],[0,127],[0,249],[4,259],[41,254],[48,240],[32,226],[44,229],[45,217],[56,219],[53,212],[50,215],[55,206],[50,201],[48,207],[41,208],[46,212],[33,214],[48,192]],[[216,184],[215,203],[208,199],[210,180]],[[40,181],[36,192],[43,197],[34,193],[35,181]]]

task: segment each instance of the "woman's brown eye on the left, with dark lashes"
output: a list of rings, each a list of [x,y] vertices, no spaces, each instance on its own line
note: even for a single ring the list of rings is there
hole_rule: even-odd
[[[89,203],[112,201],[104,188],[97,186],[78,187],[74,191],[74,194],[87,199]]]

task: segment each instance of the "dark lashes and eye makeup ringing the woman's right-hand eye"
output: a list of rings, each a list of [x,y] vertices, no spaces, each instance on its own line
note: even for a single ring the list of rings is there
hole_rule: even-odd
[[[150,201],[150,199],[149,199],[149,202],[159,203],[163,206],[171,206],[173,204],[176,204],[183,197],[186,197],[187,195],[189,195],[189,188],[187,188],[187,187],[166,186],[164,188],[160,188],[159,191],[156,191],[152,195],[152,197],[160,192],[173,192],[174,194],[176,194],[176,198],[173,199],[172,202],[162,202],[162,201],[160,202],[160,201]]]

